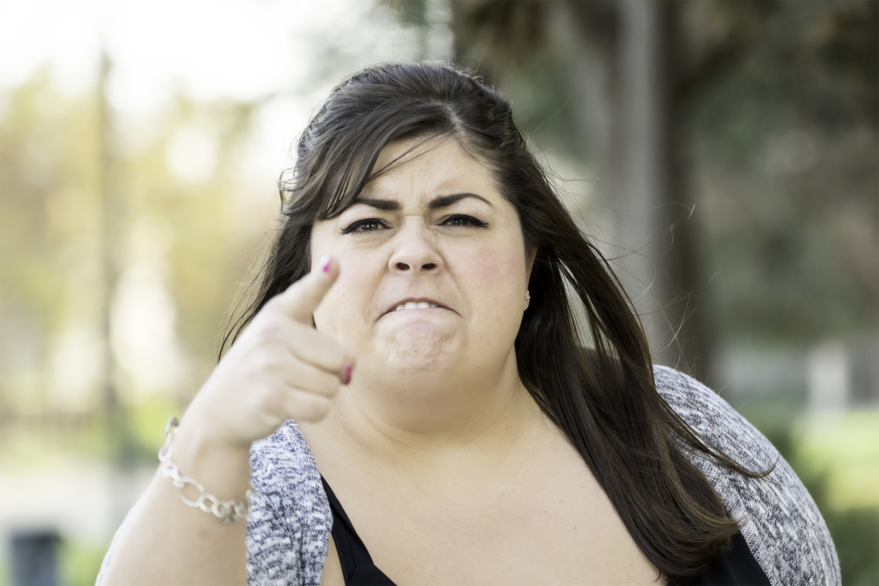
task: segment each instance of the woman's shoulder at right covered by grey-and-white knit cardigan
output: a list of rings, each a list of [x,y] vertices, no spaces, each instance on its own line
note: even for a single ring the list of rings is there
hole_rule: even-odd
[[[772,472],[746,478],[686,452],[723,499],[770,582],[836,586],[839,560],[815,502],[781,454],[720,395],[672,368],[655,366],[657,391],[701,438],[744,467]]]

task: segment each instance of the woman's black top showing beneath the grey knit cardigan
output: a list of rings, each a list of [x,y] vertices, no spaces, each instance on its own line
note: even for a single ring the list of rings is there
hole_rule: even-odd
[[[396,586],[379,568],[375,567],[367,546],[354,531],[345,509],[333,494],[332,488],[321,476],[332,510],[332,539],[336,543],[338,561],[342,565],[345,586]],[[771,586],[748,548],[742,532],[732,538],[732,547],[722,553],[708,568],[708,572],[690,582],[691,586]],[[669,582],[671,585],[671,582]]]

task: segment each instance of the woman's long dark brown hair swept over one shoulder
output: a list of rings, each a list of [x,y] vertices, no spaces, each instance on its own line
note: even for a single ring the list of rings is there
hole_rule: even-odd
[[[280,228],[221,355],[266,301],[309,271],[312,225],[352,204],[374,177],[381,149],[437,135],[454,137],[489,165],[536,254],[515,343],[534,401],[582,455],[647,558],[675,584],[703,574],[738,524],[683,451],[758,474],[703,441],[657,393],[647,340],[614,272],[528,151],[511,105],[461,69],[385,64],[332,91],[301,134],[292,175],[282,176]],[[585,309],[592,351],[578,342],[566,284]]]

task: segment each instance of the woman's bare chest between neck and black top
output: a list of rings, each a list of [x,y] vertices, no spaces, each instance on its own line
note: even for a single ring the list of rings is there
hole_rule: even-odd
[[[657,569],[576,454],[548,453],[512,476],[432,486],[333,475],[375,566],[397,586],[657,583]],[[344,583],[334,545],[322,583]]]

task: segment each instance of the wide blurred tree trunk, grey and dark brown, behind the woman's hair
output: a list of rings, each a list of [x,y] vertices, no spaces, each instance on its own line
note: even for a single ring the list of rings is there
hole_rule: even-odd
[[[602,221],[613,231],[604,251],[653,358],[704,380],[708,344],[697,296],[706,283],[686,189],[672,10],[669,0],[565,0],[556,3],[550,37],[570,71],[578,132],[607,202]]]

